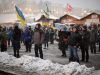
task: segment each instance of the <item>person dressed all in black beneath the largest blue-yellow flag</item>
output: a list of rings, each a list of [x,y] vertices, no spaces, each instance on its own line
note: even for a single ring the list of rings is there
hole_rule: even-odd
[[[18,23],[13,24],[13,32],[12,32],[12,45],[13,45],[13,50],[14,50],[14,56],[19,58],[19,42],[20,42],[20,37],[21,37],[21,30],[18,28]]]

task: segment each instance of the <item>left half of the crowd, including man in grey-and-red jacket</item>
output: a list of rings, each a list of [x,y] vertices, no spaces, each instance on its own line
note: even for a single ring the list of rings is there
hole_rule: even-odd
[[[41,24],[36,24],[35,29],[25,27],[20,29],[18,23],[14,23],[13,26],[10,26],[7,29],[5,26],[0,26],[0,46],[1,52],[7,51],[8,47],[13,47],[14,56],[19,58],[19,50],[21,48],[21,43],[25,45],[25,52],[31,52],[32,44],[35,46],[35,56],[39,57],[38,51],[40,53],[40,58],[43,59],[42,44],[44,44],[44,49],[48,49],[50,44],[54,43],[54,30],[52,27],[44,26]]]

